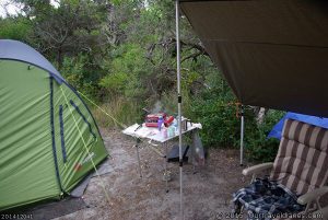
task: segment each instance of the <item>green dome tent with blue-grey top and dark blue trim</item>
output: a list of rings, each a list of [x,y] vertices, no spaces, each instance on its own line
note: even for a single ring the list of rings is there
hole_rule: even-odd
[[[39,53],[0,39],[0,210],[69,194],[107,157],[89,108]]]

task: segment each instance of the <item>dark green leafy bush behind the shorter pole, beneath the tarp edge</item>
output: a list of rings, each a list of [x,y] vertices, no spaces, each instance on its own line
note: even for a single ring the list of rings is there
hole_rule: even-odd
[[[241,141],[241,118],[236,117],[236,113],[239,112],[234,104],[236,100],[225,82],[218,85],[220,84],[216,82],[212,89],[194,101],[192,119],[202,124],[201,138],[206,147],[237,149]],[[279,141],[267,139],[267,135],[283,114],[270,109],[262,124],[258,125],[254,109],[245,106],[244,146],[248,160],[274,160]]]

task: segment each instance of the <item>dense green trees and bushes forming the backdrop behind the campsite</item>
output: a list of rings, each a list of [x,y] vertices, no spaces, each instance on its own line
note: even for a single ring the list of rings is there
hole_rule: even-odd
[[[141,120],[142,108],[176,114],[175,10],[172,0],[14,0],[21,13],[0,19],[0,38],[25,42],[44,54],[81,93],[119,123]],[[199,38],[181,16],[184,115],[202,123],[207,147],[237,147],[237,100]],[[159,104],[160,103],[160,104]],[[281,113],[246,107],[250,159],[271,160],[277,142],[266,140]],[[94,109],[103,126],[117,121]]]

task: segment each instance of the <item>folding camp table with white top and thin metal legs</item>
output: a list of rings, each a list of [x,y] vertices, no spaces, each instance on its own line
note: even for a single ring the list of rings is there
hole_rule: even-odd
[[[197,129],[201,129],[201,124],[192,124],[192,123],[188,121],[187,129],[183,130],[181,134],[190,132],[192,130],[196,131]],[[160,131],[157,128],[145,127],[144,124],[143,125],[134,124],[134,125],[126,128],[125,130],[122,130],[122,132],[125,135],[136,138],[134,147],[136,147],[136,151],[137,151],[139,174],[140,174],[141,178],[142,178],[142,172],[141,172],[140,154],[139,154],[139,143],[141,141],[141,139],[148,139],[149,143],[150,143],[149,144],[150,149],[154,150],[157,154],[160,154],[164,159],[164,170],[165,170],[164,175],[167,175],[167,146],[168,146],[167,142],[169,140],[178,137],[179,136],[178,132],[175,132],[173,136],[168,137],[168,136],[164,135],[164,132],[162,130]],[[155,141],[155,142],[162,144],[162,149],[164,150],[164,153],[161,152],[161,150],[159,150],[157,148],[154,148],[151,144],[151,141]],[[194,146],[195,144],[192,144],[192,147]],[[194,149],[191,149],[191,153],[194,153]],[[191,158],[194,158],[192,154],[191,154]],[[168,187],[167,187],[168,183],[167,182],[168,182],[168,178],[167,178],[167,176],[165,176],[166,192],[168,192]]]

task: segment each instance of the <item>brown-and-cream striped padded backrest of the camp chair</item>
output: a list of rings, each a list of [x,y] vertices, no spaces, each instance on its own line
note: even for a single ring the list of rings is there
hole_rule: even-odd
[[[327,176],[328,129],[286,119],[271,180],[303,195],[324,186]]]

